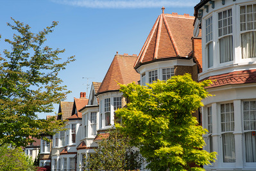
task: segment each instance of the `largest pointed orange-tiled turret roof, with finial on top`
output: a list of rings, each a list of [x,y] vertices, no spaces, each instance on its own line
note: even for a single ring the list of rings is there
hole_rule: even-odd
[[[192,51],[193,22],[194,17],[188,14],[159,15],[134,67],[171,57],[187,57]]]

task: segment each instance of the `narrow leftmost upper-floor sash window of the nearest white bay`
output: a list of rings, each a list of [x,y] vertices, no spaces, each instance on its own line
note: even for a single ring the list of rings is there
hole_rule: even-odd
[[[208,68],[213,66],[212,16],[205,20]]]

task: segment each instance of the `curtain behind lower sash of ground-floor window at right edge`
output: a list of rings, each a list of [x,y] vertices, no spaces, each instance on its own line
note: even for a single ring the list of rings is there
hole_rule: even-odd
[[[244,133],[246,162],[256,162],[256,138],[252,133]]]

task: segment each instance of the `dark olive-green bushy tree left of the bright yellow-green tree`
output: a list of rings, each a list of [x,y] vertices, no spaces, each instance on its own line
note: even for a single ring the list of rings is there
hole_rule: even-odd
[[[143,158],[130,145],[128,137],[118,129],[107,131],[107,138],[99,142],[95,153],[90,153],[85,166],[89,170],[137,170]],[[101,136],[101,135],[99,135]]]

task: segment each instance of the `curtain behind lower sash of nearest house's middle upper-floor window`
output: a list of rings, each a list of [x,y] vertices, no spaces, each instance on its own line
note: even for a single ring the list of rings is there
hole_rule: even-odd
[[[219,40],[219,57],[221,63],[233,61],[233,36],[225,36]]]

